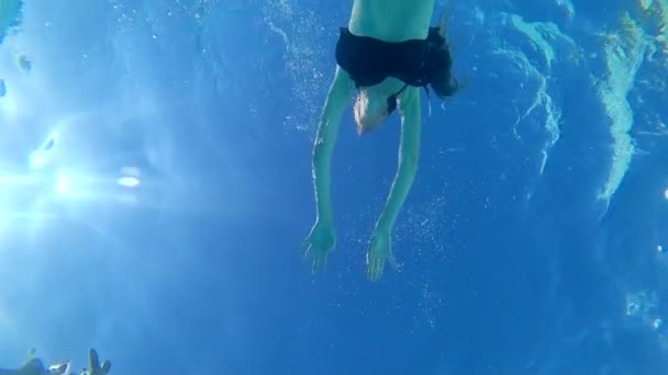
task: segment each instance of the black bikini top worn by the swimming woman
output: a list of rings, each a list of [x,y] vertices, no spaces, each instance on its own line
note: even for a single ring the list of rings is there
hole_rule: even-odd
[[[423,87],[449,75],[447,45],[437,27],[430,27],[426,39],[390,43],[353,35],[341,29],[336,63],[350,75],[357,88],[370,87],[394,77],[409,86]]]

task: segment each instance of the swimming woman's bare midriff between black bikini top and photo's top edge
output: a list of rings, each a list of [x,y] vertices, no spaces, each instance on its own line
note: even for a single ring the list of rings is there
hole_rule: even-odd
[[[348,30],[385,42],[424,39],[435,0],[355,0]]]

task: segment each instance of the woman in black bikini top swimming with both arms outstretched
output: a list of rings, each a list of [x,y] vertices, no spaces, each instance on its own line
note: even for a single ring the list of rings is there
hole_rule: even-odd
[[[422,122],[421,89],[441,99],[454,95],[457,80],[445,38],[446,25],[431,27],[435,0],[354,0],[348,27],[336,44],[336,70],[313,145],[316,219],[304,240],[313,272],[334,248],[331,161],[343,113],[356,91],[353,113],[358,134],[375,130],[394,111],[401,116],[399,166],[385,208],[367,249],[367,273],[382,276],[386,262],[394,268],[391,232],[417,171]]]

